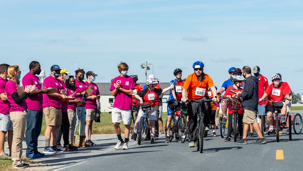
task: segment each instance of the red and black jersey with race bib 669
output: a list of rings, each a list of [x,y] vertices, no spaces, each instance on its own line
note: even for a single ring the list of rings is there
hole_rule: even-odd
[[[139,93],[137,93],[138,96],[140,96],[143,100],[143,103],[150,103],[153,100],[159,100],[159,95],[162,93],[162,90],[159,90],[155,88],[152,91],[149,91],[148,88],[143,89]],[[155,107],[156,105],[159,106],[159,102],[153,102],[151,103],[151,108]]]

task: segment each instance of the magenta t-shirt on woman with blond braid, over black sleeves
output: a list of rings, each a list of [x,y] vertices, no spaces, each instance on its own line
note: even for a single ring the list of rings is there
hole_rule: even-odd
[[[17,87],[18,86],[12,80],[8,80],[5,85],[6,97],[9,103],[11,103],[11,109],[9,110],[9,112],[26,112],[25,100],[17,104],[11,96],[14,92],[17,93]]]

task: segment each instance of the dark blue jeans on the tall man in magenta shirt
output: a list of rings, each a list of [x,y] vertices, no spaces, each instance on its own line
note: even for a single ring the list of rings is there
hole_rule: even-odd
[[[43,111],[28,110],[26,118],[26,154],[38,152],[38,137],[41,133]]]

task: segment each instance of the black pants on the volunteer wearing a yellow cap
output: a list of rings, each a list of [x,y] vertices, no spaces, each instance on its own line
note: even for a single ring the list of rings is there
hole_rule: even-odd
[[[62,112],[62,124],[58,126],[56,135],[56,146],[61,146],[61,136],[63,134],[64,145],[69,144],[69,120],[67,112]]]

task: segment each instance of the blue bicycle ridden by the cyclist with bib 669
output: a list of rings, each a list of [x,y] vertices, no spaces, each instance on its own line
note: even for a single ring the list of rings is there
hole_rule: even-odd
[[[138,129],[138,145],[141,144],[141,141],[145,141],[150,130],[150,126],[148,124],[148,116],[145,117],[145,111],[151,110],[151,103],[160,102],[160,100],[153,100],[150,103],[145,103],[141,105],[141,109],[143,110],[143,115],[140,117],[139,129]]]

